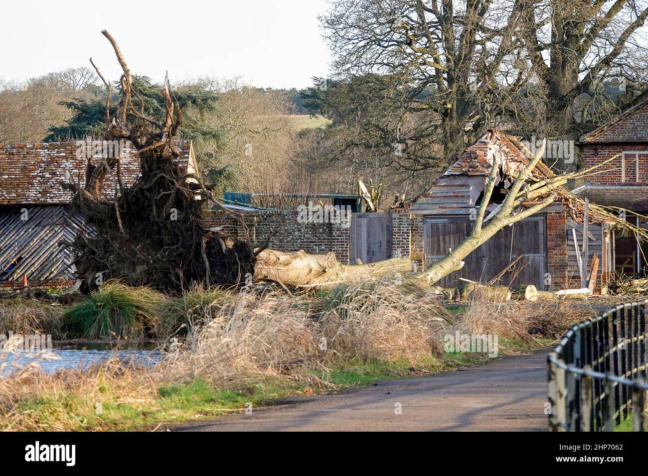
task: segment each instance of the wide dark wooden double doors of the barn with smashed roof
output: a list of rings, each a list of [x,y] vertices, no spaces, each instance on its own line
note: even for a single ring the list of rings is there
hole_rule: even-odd
[[[468,216],[430,216],[424,226],[424,260],[429,267],[455,249],[470,231],[473,222]],[[546,218],[534,215],[500,230],[495,236],[470,253],[459,271],[450,273],[437,285],[452,288],[459,278],[489,282],[520,254],[516,273],[503,275],[500,284],[514,288],[518,284],[535,284],[546,290],[547,268]]]

